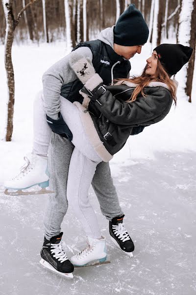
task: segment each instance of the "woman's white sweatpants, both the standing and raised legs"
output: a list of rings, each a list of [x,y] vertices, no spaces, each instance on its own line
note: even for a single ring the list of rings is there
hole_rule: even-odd
[[[98,220],[88,198],[88,190],[98,163],[102,159],[91,146],[79,116],[78,108],[64,97],[61,100],[61,115],[72,131],[75,146],[69,166],[67,199],[75,216],[81,222],[87,236],[101,236]],[[46,121],[43,93],[39,92],[34,103],[33,152],[47,155],[51,129]],[[40,150],[42,147],[42,150]]]

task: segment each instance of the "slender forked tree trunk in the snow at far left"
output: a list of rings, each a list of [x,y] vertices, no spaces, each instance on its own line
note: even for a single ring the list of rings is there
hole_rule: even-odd
[[[5,21],[6,21],[4,62],[5,62],[5,70],[6,70],[6,76],[7,76],[7,87],[8,87],[7,125],[5,129],[6,141],[11,141],[12,132],[13,132],[15,83],[14,83],[14,69],[12,64],[12,44],[14,40],[14,32],[17,25],[19,24],[19,21],[25,9],[37,1],[38,0],[30,0],[15,18],[13,14],[13,9],[12,9],[13,0],[2,0]]]

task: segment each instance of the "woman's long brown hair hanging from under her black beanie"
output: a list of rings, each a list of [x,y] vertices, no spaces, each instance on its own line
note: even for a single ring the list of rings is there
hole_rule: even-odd
[[[118,79],[117,84],[123,84],[123,81],[129,81],[129,82],[133,82],[133,83],[138,84],[137,87],[134,89],[131,97],[126,102],[132,102],[132,101],[136,100],[139,93],[141,93],[145,97],[146,94],[144,93],[144,88],[147,87],[150,82],[162,82],[168,86],[168,88],[172,94],[172,98],[173,98],[175,105],[176,105],[175,85],[172,82],[172,80],[170,79],[170,76],[168,75],[168,73],[164,69],[160,60],[159,59],[157,60],[157,68],[156,68],[156,72],[154,75],[151,75],[151,76],[147,75],[146,69],[147,69],[147,65],[144,68],[142,75],[139,77],[133,77],[133,78],[129,78],[129,79]]]

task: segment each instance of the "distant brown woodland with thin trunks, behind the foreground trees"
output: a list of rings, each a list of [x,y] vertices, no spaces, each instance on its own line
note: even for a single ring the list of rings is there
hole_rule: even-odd
[[[13,14],[17,15],[28,0],[12,2]],[[194,1],[184,2],[189,5],[189,2]],[[152,26],[153,19],[157,21],[158,43],[161,34],[168,37],[169,33],[177,38],[182,0],[37,0],[22,15],[15,32],[15,41],[21,43],[28,39],[34,42],[66,40],[67,24],[67,29],[71,31],[72,44],[75,46],[80,41],[95,38],[101,29],[113,26],[130,3],[134,3],[141,10],[148,25]],[[65,7],[68,7],[68,10]],[[155,15],[154,11],[158,15]],[[0,2],[1,43],[4,43],[5,28],[3,5]]]

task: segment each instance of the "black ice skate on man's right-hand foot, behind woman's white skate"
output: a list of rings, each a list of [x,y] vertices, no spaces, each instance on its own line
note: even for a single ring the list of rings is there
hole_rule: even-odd
[[[124,215],[114,217],[112,221],[109,222],[110,236],[111,240],[118,248],[129,257],[133,257],[132,252],[134,250],[134,244],[124,227],[123,217]]]

